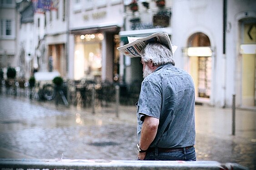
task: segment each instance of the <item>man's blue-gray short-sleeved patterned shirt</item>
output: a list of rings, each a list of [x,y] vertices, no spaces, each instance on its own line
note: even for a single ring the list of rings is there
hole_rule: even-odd
[[[150,147],[195,145],[195,86],[185,70],[171,64],[159,66],[143,80],[136,105],[139,141],[147,115],[159,119],[156,137]]]

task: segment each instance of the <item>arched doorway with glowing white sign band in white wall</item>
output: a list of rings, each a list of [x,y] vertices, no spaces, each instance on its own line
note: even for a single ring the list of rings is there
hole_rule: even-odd
[[[187,47],[188,71],[195,82],[196,101],[210,102],[212,78],[210,39],[201,32],[192,34],[188,39]]]

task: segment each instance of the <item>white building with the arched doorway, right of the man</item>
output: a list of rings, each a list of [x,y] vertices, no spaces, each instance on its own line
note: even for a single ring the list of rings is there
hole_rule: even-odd
[[[255,108],[255,6],[255,0],[173,0],[176,65],[191,73],[197,102],[231,107],[234,94],[238,107]],[[242,44],[253,45],[252,52],[241,51]]]

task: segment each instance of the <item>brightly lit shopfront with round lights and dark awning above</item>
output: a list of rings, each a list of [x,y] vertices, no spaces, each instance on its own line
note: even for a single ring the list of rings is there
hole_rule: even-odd
[[[73,30],[74,79],[118,81],[119,27]]]

